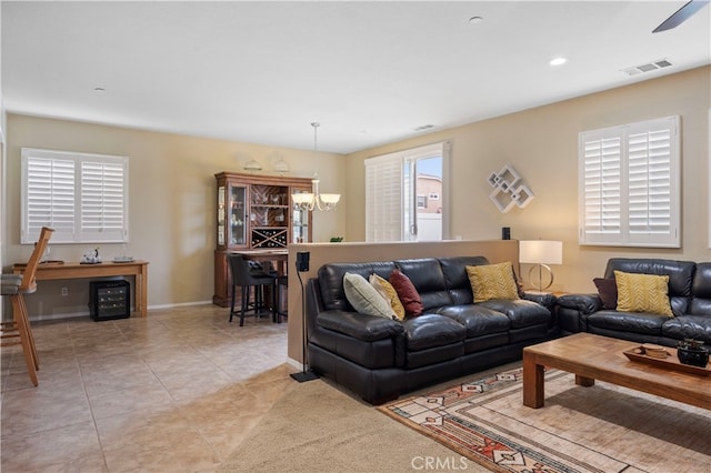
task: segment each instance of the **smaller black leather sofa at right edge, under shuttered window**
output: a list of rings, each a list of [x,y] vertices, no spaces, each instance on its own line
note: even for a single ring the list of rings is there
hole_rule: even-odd
[[[590,332],[667,346],[691,338],[711,345],[711,263],[613,258],[608,261],[604,278],[612,278],[615,270],[668,274],[674,316],[603,309],[599,294],[565,294],[558,298],[562,334]]]

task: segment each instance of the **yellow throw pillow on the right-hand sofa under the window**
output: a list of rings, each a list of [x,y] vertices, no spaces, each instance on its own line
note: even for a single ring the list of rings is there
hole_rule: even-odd
[[[621,312],[647,312],[674,316],[669,303],[669,275],[614,271]]]

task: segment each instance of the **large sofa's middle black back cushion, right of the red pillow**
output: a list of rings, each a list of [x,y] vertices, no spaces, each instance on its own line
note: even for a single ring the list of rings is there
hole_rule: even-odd
[[[434,258],[397,260],[395,265],[417,288],[424,312],[452,303],[439,260]]]

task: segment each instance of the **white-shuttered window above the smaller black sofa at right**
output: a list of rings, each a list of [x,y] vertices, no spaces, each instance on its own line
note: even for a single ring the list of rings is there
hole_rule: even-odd
[[[680,246],[679,122],[580,133],[580,244]]]

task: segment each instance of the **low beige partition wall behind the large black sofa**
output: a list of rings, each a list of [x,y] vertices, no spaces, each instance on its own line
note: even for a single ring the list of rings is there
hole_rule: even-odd
[[[301,273],[306,285],[316,278],[319,268],[328,262],[393,261],[407,258],[487,256],[491,263],[519,260],[517,241],[442,241],[422,243],[311,243],[289,246],[289,268],[294,266],[296,254],[308,251],[309,271]],[[289,348],[288,355],[301,361],[301,286],[296,271],[289,271]]]

